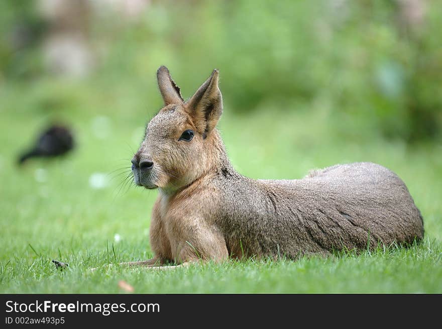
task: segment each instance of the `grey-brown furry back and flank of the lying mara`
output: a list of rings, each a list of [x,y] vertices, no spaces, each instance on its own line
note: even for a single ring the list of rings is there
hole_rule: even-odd
[[[237,256],[295,258],[423,238],[407,187],[374,163],[336,165],[299,180],[230,179],[220,217]]]

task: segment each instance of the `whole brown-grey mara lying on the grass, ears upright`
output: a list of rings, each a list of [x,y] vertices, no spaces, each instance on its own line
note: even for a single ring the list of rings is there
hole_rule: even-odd
[[[157,75],[165,106],[133,160],[136,183],[159,189],[150,227],[155,257],[128,265],[295,259],[423,238],[422,217],[405,184],[380,165],[336,165],[298,180],[237,173],[215,128],[223,112],[218,71],[186,102],[165,67]],[[188,129],[193,139],[181,140]],[[140,169],[145,160],[153,168]]]

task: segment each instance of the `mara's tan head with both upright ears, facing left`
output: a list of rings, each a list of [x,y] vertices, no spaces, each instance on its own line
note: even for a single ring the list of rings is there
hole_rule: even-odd
[[[187,101],[166,67],[158,69],[157,78],[164,107],[149,122],[144,141],[132,159],[132,171],[137,185],[174,190],[209,169],[223,99],[217,70]]]

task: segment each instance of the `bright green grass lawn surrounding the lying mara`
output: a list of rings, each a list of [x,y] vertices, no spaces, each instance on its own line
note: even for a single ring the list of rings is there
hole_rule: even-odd
[[[0,292],[117,293],[118,281],[125,280],[137,293],[442,293],[440,142],[410,147],[385,141],[375,131],[352,128],[351,120],[321,103],[269,105],[234,115],[228,94],[219,128],[238,171],[254,178],[300,178],[336,163],[378,162],[406,182],[424,217],[424,241],[409,249],[296,262],[88,272],[151,257],[148,230],[157,194],[134,186],[120,190],[125,176],[119,174],[129,168],[160,97],[156,91],[143,94],[140,86],[124,85],[118,94],[105,86],[42,79],[0,90]],[[19,150],[53,118],[74,127],[75,152],[18,168]],[[103,136],[94,133],[99,125]],[[90,187],[91,174],[113,170],[106,187]],[[69,269],[57,271],[52,259],[69,263]]]

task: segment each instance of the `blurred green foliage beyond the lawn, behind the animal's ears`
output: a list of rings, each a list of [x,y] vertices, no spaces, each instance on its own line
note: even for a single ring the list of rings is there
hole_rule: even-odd
[[[0,5],[2,89],[38,93],[40,106],[29,112],[63,116],[95,97],[83,111],[102,113],[101,97],[115,97],[140,118],[141,104],[151,113],[160,106],[160,65],[187,96],[216,67],[226,108],[236,114],[308,108],[341,122],[335,127],[346,137],[440,136],[437,1],[69,3]]]

